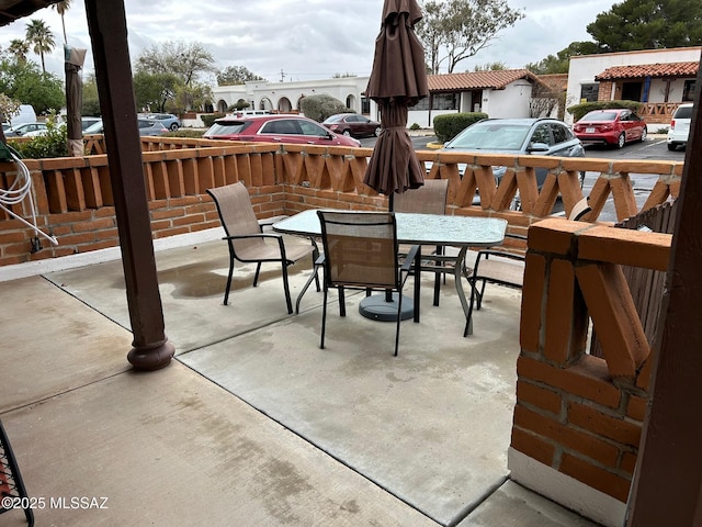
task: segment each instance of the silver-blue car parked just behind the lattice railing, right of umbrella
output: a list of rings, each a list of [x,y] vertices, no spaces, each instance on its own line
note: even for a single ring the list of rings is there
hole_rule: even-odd
[[[439,152],[585,156],[580,139],[573,134],[567,124],[557,119],[485,119],[463,130]],[[458,170],[463,176],[465,166],[458,166]],[[492,167],[498,181],[506,170],[507,167]],[[540,189],[546,173],[545,168],[536,169]]]

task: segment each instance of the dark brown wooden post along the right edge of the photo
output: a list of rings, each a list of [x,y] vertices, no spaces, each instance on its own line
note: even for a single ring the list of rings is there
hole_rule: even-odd
[[[702,59],[700,60],[702,66]],[[629,527],[702,525],[702,67],[688,141]]]

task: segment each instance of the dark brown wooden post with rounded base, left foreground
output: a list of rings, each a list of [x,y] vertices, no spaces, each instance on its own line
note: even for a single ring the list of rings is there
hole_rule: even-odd
[[[163,333],[124,0],[86,0],[86,12],[134,334],[127,359],[137,369],[156,370],[170,363],[174,349]]]

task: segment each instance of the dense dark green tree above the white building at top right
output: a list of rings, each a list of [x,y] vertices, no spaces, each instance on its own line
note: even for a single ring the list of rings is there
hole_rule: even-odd
[[[588,24],[600,53],[702,45],[700,0],[624,0]]]

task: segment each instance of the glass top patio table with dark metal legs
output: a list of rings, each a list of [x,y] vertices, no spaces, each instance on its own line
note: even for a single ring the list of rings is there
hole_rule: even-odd
[[[361,211],[358,211],[358,213],[363,214]],[[507,221],[496,217],[448,216],[442,214],[408,212],[396,212],[395,220],[397,225],[397,240],[400,244],[460,247],[454,268],[454,281],[464,315],[468,322],[467,334],[471,335],[473,333],[473,321],[468,318],[468,301],[465,298],[461,272],[465,255],[468,247],[492,247],[502,245],[507,229]],[[294,216],[274,223],[273,231],[299,236],[321,236],[321,225],[319,224],[319,216],[317,215],[316,209],[303,211]],[[421,251],[418,251],[417,259],[421,259]],[[419,267],[418,265],[416,266],[417,269],[419,269]],[[310,277],[299,293],[297,305],[299,305],[299,299],[305,294],[314,276],[315,273],[313,273],[313,277]],[[419,322],[419,280],[416,281],[415,285],[415,299],[414,317],[415,322]],[[369,302],[372,303],[373,301]],[[383,307],[378,309],[383,310]],[[369,316],[363,310],[363,306],[361,306],[361,313],[364,314],[364,316]],[[370,317],[373,318],[373,316]]]

